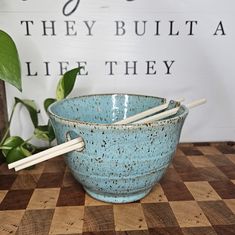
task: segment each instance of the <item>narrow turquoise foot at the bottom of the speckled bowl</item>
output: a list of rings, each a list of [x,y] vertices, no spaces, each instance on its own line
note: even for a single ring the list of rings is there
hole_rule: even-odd
[[[152,188],[148,188],[142,191],[138,191],[136,193],[128,193],[128,194],[122,194],[122,195],[113,195],[108,193],[100,193],[97,191],[90,190],[86,187],[84,187],[85,191],[93,198],[103,201],[103,202],[111,202],[111,203],[128,203],[128,202],[134,202],[142,199],[145,197]]]

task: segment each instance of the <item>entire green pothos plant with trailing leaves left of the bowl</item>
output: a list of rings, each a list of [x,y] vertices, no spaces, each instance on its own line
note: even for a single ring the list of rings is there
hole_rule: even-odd
[[[44,100],[45,112],[47,112],[50,104],[57,100],[66,98],[71,93],[80,69],[81,68],[72,69],[60,78],[57,84],[55,98],[46,98]],[[15,86],[19,91],[22,91],[20,59],[16,45],[12,38],[6,32],[1,30],[0,79]],[[10,125],[18,105],[22,105],[26,108],[34,126],[32,136],[26,140],[20,136],[10,136]],[[52,141],[55,139],[53,128],[50,121],[46,124],[40,124],[38,122],[39,113],[40,111],[37,109],[34,100],[19,99],[15,97],[15,102],[9,116],[7,128],[0,141],[0,151],[2,151],[7,163],[20,160],[32,155],[33,153],[39,152],[41,148],[30,143],[33,138],[46,141],[48,142],[48,147],[51,146]]]

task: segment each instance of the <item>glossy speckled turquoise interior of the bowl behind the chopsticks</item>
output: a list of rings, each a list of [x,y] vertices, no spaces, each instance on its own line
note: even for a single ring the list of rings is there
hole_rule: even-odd
[[[67,120],[110,124],[163,103],[164,98],[142,95],[90,95],[56,102],[49,111]]]

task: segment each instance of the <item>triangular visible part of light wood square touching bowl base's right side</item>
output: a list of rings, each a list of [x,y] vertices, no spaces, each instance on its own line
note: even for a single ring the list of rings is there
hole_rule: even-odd
[[[167,202],[166,195],[160,184],[153,187],[151,192],[141,199],[141,203]]]

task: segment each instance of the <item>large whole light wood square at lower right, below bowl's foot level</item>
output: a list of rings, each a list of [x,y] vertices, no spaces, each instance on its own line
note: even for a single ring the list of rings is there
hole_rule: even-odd
[[[195,201],[170,202],[170,206],[180,227],[211,226]]]

